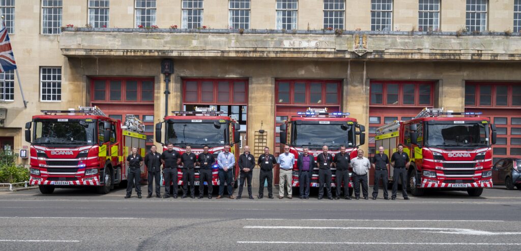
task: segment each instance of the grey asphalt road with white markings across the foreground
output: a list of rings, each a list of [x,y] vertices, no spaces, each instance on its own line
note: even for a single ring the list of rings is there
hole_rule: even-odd
[[[436,191],[410,200],[245,194],[210,200],[146,199],[146,192],[124,199],[124,189],[0,192],[0,250],[521,249],[521,191],[504,187],[480,197]]]

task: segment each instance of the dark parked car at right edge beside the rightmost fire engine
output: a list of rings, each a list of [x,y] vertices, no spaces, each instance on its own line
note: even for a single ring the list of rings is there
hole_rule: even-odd
[[[492,167],[492,182],[494,185],[505,185],[507,190],[514,186],[521,190],[521,159],[500,159]]]

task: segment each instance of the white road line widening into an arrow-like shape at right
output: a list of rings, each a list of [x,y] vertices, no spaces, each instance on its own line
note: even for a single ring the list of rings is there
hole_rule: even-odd
[[[462,235],[518,235],[516,232],[489,232],[457,228],[371,228],[371,227],[300,227],[300,226],[262,226],[246,225],[245,229],[340,229],[340,230],[418,230],[424,233],[446,233]],[[422,231],[423,230],[423,231]]]

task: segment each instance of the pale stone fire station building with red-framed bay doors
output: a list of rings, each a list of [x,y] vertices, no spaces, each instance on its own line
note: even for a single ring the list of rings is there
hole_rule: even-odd
[[[1,73],[0,146],[28,146],[41,109],[100,106],[153,124],[215,107],[242,145],[308,107],[375,130],[424,107],[481,111],[494,158],[521,157],[521,0],[6,0],[14,71]],[[173,62],[165,107],[162,60]],[[274,150],[273,150],[274,149]],[[277,155],[277,154],[275,154]],[[23,163],[27,160],[20,159]]]

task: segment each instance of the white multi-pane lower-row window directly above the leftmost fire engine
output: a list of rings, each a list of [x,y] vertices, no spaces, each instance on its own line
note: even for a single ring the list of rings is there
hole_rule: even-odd
[[[40,87],[41,101],[61,101],[61,68],[40,68]]]

